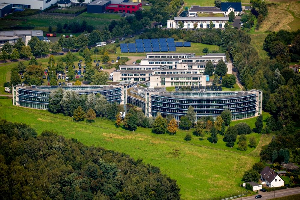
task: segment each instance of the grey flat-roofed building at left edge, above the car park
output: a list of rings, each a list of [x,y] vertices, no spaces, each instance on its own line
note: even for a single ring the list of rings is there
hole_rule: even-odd
[[[41,30],[14,30],[14,31],[0,31],[0,48],[8,41],[9,44],[14,45],[19,38],[27,45],[31,37],[38,37],[40,40],[44,39],[43,31]]]

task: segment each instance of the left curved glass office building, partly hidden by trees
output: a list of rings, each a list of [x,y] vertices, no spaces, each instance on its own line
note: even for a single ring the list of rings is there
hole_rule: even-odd
[[[47,110],[51,91],[62,88],[82,94],[101,94],[107,102],[124,104],[124,89],[121,86],[22,86],[13,87],[13,105]]]

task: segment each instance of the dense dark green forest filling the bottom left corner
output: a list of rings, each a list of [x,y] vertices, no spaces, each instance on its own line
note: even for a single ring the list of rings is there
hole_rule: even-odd
[[[1,199],[179,199],[158,167],[0,120]]]

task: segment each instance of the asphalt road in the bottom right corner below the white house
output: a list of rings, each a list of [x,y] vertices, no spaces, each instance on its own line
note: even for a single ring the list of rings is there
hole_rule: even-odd
[[[272,198],[274,198],[274,191],[271,191],[271,192],[261,192],[261,191],[259,191],[259,194],[262,195],[262,198],[259,198],[259,199],[272,199]],[[288,189],[276,190],[275,191],[275,198],[282,197],[282,196],[288,196],[288,195],[294,195],[294,194],[300,194],[300,188],[288,188]],[[250,197],[236,198],[236,200],[238,200],[238,199],[253,200],[253,199],[255,199],[255,196],[256,195],[253,195],[253,196],[250,196]]]

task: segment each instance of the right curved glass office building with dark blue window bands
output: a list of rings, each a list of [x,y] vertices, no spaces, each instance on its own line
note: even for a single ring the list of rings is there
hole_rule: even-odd
[[[262,92],[149,92],[146,93],[146,116],[172,115],[177,121],[185,116],[189,106],[194,107],[197,120],[205,116],[214,119],[229,109],[232,120],[261,114]]]

